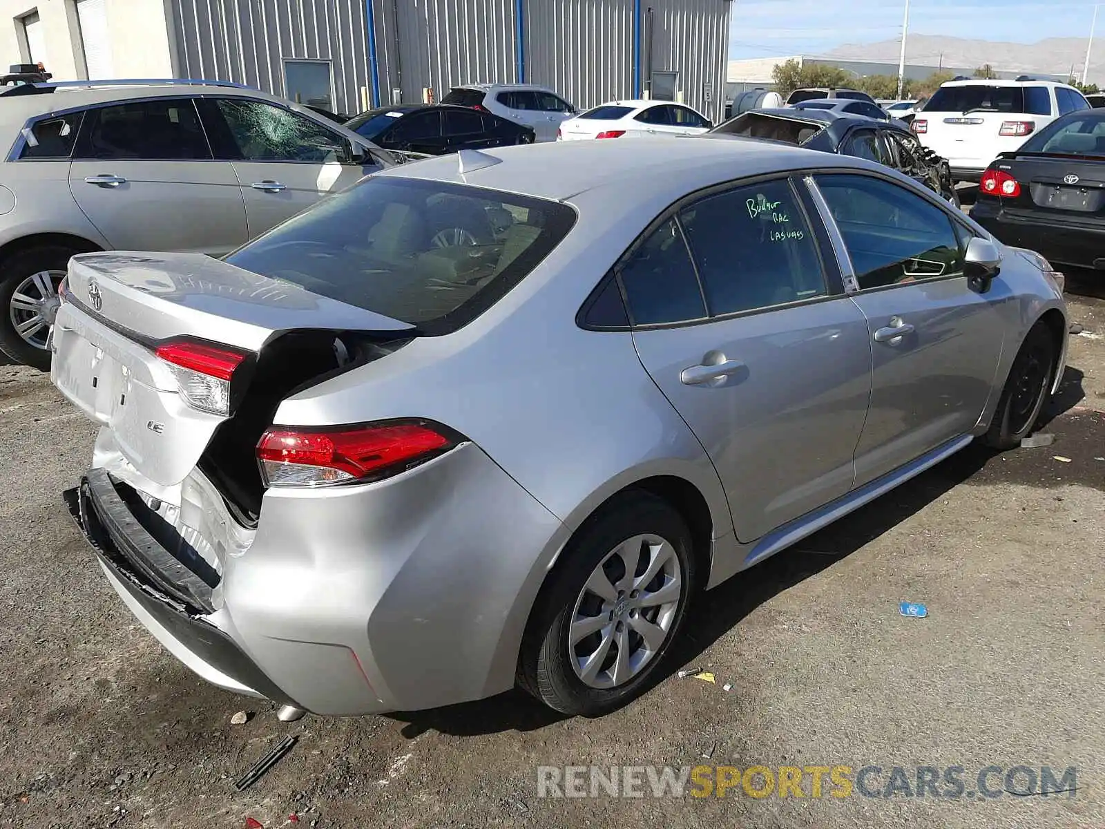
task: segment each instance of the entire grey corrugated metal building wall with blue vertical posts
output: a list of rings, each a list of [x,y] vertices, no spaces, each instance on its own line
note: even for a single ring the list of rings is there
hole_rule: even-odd
[[[457,83],[517,81],[516,0],[368,0],[380,103]],[[284,94],[286,59],[333,64],[335,102],[362,108],[372,85],[362,0],[170,0],[180,74]],[[678,73],[683,99],[724,108],[730,0],[642,0],[641,88]],[[650,9],[651,14],[649,13]],[[634,0],[523,0],[525,74],[578,106],[633,94]],[[651,25],[650,25],[651,21]],[[712,99],[707,101],[707,96]]]

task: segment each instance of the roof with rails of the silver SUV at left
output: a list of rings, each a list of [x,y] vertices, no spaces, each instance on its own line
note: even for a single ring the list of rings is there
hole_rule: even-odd
[[[52,84],[36,84],[51,86]],[[17,87],[20,88],[20,87]],[[53,92],[39,94],[4,95],[0,97],[0,125],[21,127],[28,118],[52,113],[65,112],[83,106],[110,104],[150,97],[197,97],[201,95],[218,95],[220,97],[261,98],[287,106],[285,98],[270,95],[259,90],[241,86],[224,86],[218,84],[109,84],[105,86],[54,86]]]

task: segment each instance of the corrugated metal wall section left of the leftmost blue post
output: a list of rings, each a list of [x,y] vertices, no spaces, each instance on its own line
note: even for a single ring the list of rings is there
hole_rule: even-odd
[[[171,0],[179,73],[284,91],[284,60],[330,61],[336,109],[358,112],[368,87],[359,0]]]

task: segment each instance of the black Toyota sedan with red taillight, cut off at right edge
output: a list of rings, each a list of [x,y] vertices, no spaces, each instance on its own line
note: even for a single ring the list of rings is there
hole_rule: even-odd
[[[998,156],[971,217],[1006,244],[1105,270],[1105,109],[1060,116]]]

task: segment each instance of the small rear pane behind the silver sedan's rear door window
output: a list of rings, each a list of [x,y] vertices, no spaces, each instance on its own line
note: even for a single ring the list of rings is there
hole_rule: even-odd
[[[618,267],[634,325],[706,316],[683,233],[674,219],[654,230]]]

